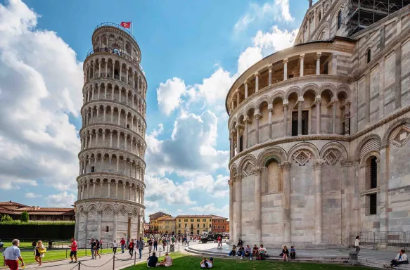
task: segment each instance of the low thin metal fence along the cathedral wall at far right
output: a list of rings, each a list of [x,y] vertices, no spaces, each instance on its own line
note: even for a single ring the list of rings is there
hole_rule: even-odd
[[[410,231],[360,231],[350,233],[350,246],[354,246],[356,237],[360,237],[360,245],[378,248],[410,248]]]

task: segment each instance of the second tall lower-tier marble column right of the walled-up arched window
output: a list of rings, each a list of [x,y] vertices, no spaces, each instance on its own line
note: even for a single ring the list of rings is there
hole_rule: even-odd
[[[314,241],[316,244],[322,242],[322,185],[321,169],[323,160],[315,160],[314,169]]]

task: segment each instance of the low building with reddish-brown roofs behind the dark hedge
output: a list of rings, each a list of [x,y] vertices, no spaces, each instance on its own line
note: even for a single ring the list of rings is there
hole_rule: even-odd
[[[20,219],[21,213],[27,211],[32,221],[74,221],[74,208],[39,207],[22,205],[11,200],[0,203],[0,214],[8,214],[11,218]]]

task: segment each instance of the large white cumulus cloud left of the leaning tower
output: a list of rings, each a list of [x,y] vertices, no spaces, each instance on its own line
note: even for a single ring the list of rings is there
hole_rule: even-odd
[[[75,187],[82,64],[22,1],[0,4],[0,188]],[[5,128],[6,127],[6,128]]]

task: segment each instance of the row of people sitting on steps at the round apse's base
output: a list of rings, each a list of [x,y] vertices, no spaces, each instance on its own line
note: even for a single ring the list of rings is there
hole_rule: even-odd
[[[236,251],[236,249],[238,249],[238,251]],[[260,245],[260,248],[258,248],[257,245],[254,245],[253,248],[246,245],[246,248],[243,248],[243,240],[241,239],[239,239],[237,246],[233,245],[232,250],[229,252],[229,256],[241,256],[241,259],[243,259],[243,257],[249,257],[249,259],[252,259],[252,257],[255,259],[265,259],[269,257],[267,254],[267,249],[264,248],[263,245]],[[282,257],[282,261],[285,259],[288,261],[289,256],[290,259],[296,259],[296,250],[293,246],[291,246],[290,250],[288,250],[285,245],[279,256]]]

